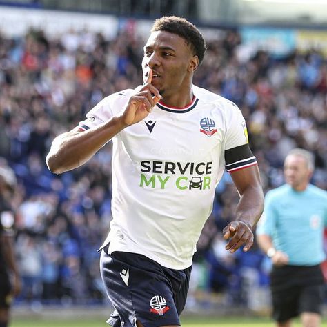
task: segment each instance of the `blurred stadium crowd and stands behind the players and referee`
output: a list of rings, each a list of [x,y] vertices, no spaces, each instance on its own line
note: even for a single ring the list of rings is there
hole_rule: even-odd
[[[0,166],[19,181],[12,205],[23,291],[14,313],[108,310],[97,249],[111,219],[111,145],[63,175],[52,175],[45,157],[103,97],[142,83],[152,21],[170,14],[204,34],[194,83],[241,108],[265,192],[284,183],[294,147],[314,153],[313,184],[327,190],[326,1],[0,1]],[[224,250],[221,230],[237,199],[226,173],[197,246],[188,312],[270,310],[270,259],[256,245]]]

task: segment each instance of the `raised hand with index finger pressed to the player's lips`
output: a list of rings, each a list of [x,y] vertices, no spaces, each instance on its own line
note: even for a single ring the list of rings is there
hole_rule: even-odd
[[[135,94],[130,97],[126,108],[121,116],[122,122],[126,126],[146,118],[152,111],[152,108],[159,102],[161,95],[155,86],[152,86],[153,72],[149,69],[148,77],[143,86],[135,89]]]

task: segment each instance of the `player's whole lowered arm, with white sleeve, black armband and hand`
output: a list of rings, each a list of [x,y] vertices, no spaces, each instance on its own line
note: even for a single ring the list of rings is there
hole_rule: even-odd
[[[264,210],[264,192],[262,191],[257,159],[248,144],[248,130],[241,110],[228,101],[226,104],[226,170],[239,192],[235,221],[224,230],[224,239],[229,239],[226,250],[235,252],[244,245],[248,251],[253,244],[252,228],[255,227]]]

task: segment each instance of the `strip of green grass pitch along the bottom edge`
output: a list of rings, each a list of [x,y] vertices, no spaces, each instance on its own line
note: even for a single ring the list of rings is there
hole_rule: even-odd
[[[274,327],[273,321],[261,317],[182,317],[182,327]],[[45,319],[13,319],[10,327],[107,327],[106,319],[75,319],[75,320],[45,320]],[[295,321],[293,327],[301,327]]]

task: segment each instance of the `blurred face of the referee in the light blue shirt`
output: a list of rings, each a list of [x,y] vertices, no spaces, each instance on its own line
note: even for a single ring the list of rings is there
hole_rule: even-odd
[[[284,162],[284,176],[286,183],[297,191],[305,190],[312,171],[308,162],[301,155],[288,155]]]

